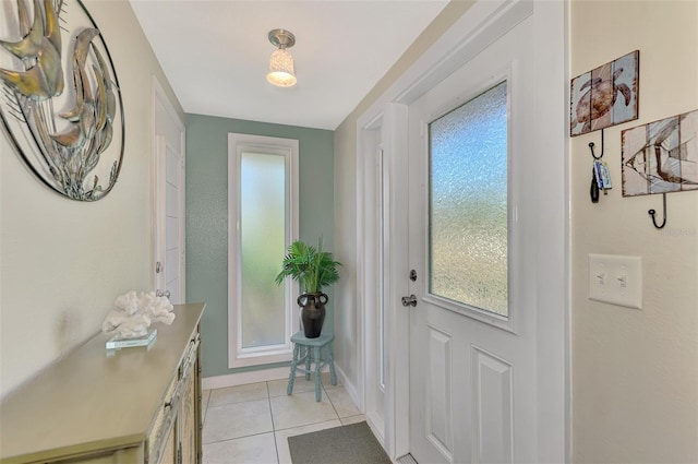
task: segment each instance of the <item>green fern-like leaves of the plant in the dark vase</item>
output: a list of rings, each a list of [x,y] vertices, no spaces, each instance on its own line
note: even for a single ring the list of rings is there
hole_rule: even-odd
[[[288,254],[281,261],[281,272],[275,282],[280,285],[284,278],[291,277],[302,284],[305,293],[320,293],[323,287],[339,281],[337,267],[340,265],[330,252],[323,251],[322,238],[317,240],[317,248],[296,240],[288,247]]]

